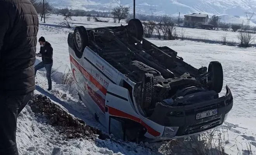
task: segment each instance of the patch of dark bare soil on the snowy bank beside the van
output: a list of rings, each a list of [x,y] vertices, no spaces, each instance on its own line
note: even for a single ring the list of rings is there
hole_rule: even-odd
[[[36,116],[45,117],[47,123],[54,126],[60,134],[66,135],[67,139],[85,138],[95,140],[98,137],[105,140],[109,138],[99,129],[90,127],[83,120],[70,115],[45,95],[34,95],[28,105]]]

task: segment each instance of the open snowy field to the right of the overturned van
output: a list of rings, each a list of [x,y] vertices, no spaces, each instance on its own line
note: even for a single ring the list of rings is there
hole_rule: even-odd
[[[223,125],[229,130],[230,143],[227,145],[227,152],[234,154],[237,151],[233,146],[237,141],[237,145],[240,145],[240,142],[244,148],[246,142],[252,142],[252,149],[256,153],[256,48],[229,47],[194,41],[149,40],[158,46],[172,48],[184,61],[196,68],[208,66],[209,62],[214,60],[221,62],[224,74],[221,95],[225,94],[225,84],[228,84],[234,97],[233,108]]]

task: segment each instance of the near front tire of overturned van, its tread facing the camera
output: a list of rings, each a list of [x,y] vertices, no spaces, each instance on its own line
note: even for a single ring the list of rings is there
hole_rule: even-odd
[[[142,79],[142,107],[149,108],[153,102],[155,97],[154,90],[154,76],[153,74],[144,74],[144,78]]]

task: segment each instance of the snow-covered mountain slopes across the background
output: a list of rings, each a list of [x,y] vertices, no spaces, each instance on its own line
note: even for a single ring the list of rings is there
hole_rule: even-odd
[[[55,7],[108,10],[123,4],[133,7],[133,0],[52,0]],[[137,12],[145,14],[238,15],[256,11],[256,0],[136,0]]]

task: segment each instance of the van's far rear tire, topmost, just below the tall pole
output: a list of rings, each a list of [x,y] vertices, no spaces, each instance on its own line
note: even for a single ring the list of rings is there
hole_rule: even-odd
[[[128,31],[130,31],[130,34],[132,36],[137,38],[139,41],[142,41],[142,38],[144,35],[144,29],[143,29],[143,25],[139,19],[131,19],[128,22],[127,29],[128,29]]]

